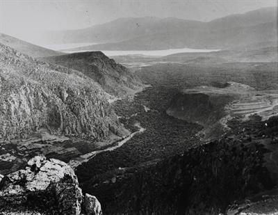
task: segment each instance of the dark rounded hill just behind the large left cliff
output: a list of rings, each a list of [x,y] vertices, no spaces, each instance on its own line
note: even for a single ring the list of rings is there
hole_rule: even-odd
[[[124,96],[142,88],[142,83],[135,74],[123,65],[115,63],[101,51],[51,56],[43,60],[79,70],[99,83],[111,95]]]

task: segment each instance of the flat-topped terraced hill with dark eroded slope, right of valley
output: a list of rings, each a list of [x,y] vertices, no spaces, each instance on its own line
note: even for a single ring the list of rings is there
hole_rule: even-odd
[[[262,120],[278,115],[278,90],[256,90],[229,81],[224,87],[197,86],[175,95],[167,114],[202,125],[204,140],[218,138],[231,118],[248,120],[256,114]]]

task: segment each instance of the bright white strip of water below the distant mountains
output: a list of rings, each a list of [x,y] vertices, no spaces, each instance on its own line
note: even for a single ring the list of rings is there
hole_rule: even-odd
[[[85,52],[90,50],[81,50],[81,51],[64,51],[66,53],[74,53],[74,52]],[[97,50],[92,50],[97,51]],[[194,53],[194,52],[211,52],[211,51],[219,51],[219,49],[165,49],[165,50],[134,50],[134,51],[102,51],[107,56],[121,56],[121,55],[132,55],[132,54],[141,54],[145,56],[167,56],[170,54],[177,53]]]

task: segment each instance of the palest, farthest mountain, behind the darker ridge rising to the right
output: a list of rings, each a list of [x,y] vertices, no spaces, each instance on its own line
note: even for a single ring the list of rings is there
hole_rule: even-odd
[[[42,35],[42,38],[54,43],[120,42],[152,33],[163,33],[165,29],[174,31],[180,27],[194,28],[199,25],[202,25],[202,22],[177,18],[126,17],[86,29],[51,31]]]

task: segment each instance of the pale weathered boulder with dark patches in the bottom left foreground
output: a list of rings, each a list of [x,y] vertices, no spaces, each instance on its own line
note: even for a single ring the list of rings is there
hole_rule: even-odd
[[[0,180],[1,180],[0,176]],[[83,196],[74,170],[63,161],[42,156],[28,161],[24,170],[2,178],[0,212],[3,214],[102,214],[95,196]]]

